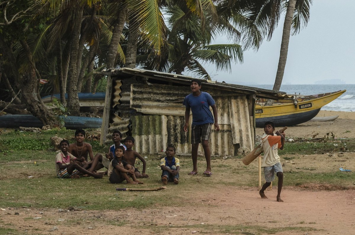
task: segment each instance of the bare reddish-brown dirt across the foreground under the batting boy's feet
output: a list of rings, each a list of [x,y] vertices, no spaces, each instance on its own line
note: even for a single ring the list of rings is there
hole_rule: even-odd
[[[129,196],[130,192],[124,193]],[[279,203],[276,189],[266,192],[269,199],[261,199],[256,188],[218,187],[185,194],[184,205],[169,208],[6,208],[1,211],[1,222],[11,224],[20,234],[339,234],[355,229],[350,209],[355,206],[354,193],[286,187],[284,202]],[[262,233],[258,232],[261,228]]]

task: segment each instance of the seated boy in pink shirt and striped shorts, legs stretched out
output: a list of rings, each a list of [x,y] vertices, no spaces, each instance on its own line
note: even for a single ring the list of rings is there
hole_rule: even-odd
[[[77,171],[93,176],[96,179],[102,178],[101,174],[94,174],[76,163],[75,160],[77,158],[68,152],[69,142],[67,140],[62,140],[59,146],[61,152],[55,157],[55,170],[59,178],[78,178]],[[84,161],[84,157],[79,160]]]

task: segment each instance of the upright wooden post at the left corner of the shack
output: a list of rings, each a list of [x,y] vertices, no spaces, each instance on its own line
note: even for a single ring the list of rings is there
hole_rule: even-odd
[[[107,76],[106,95],[105,95],[105,104],[104,104],[104,114],[102,116],[100,145],[105,144],[107,131],[109,129],[111,96],[112,96],[112,77],[110,75],[108,75]]]

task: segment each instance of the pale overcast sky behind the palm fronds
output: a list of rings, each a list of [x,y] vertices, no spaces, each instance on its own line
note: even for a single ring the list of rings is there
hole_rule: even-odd
[[[282,84],[355,84],[354,0],[314,0],[310,21],[299,34],[290,37]],[[245,51],[243,64],[232,72],[205,68],[213,80],[234,84],[274,84],[280,55],[284,18],[258,51]],[[225,43],[218,39],[216,43]],[[191,74],[186,74],[191,76]],[[334,82],[330,80],[338,80]]]

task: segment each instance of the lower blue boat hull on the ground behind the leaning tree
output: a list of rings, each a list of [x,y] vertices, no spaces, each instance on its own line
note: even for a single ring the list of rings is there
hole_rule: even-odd
[[[102,118],[98,117],[67,116],[63,118],[67,129],[100,128],[102,125]],[[0,127],[18,128],[20,126],[42,128],[43,123],[37,117],[27,114],[0,116]]]

